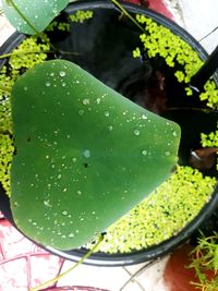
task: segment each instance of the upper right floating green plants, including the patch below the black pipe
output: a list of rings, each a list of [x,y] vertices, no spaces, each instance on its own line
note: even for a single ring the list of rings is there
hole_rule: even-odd
[[[174,76],[178,82],[189,84],[191,77],[203,65],[204,61],[199,59],[198,53],[183,39],[174,35],[169,28],[157,24],[152,19],[144,15],[136,15],[140,24],[144,25],[145,33],[140,38],[143,44],[143,49],[146,50],[149,58],[157,56],[161,57],[167,65],[173,68],[178,66]],[[142,56],[141,49],[137,47],[133,51],[133,57],[138,58]],[[206,82],[204,92],[199,94],[202,101],[206,100],[209,108],[218,108],[218,89],[213,80]],[[192,89],[187,86],[185,88],[186,95],[193,94]]]

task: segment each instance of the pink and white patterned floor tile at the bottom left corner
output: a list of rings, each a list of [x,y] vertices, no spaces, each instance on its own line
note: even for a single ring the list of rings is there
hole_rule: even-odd
[[[27,291],[55,278],[62,263],[0,220],[0,291]]]

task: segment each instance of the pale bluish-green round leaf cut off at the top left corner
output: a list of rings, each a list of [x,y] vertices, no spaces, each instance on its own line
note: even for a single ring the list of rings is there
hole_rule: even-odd
[[[68,3],[69,0],[3,0],[3,11],[19,32],[34,35],[43,32]]]

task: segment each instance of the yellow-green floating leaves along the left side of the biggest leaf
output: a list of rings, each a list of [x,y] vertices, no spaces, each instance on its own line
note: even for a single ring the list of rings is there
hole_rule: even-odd
[[[22,73],[47,59],[48,51],[50,45],[46,35],[24,39],[10,54],[7,66],[1,69],[0,84],[12,88]],[[9,195],[10,167],[14,153],[12,134],[10,94],[0,90],[0,182]]]

